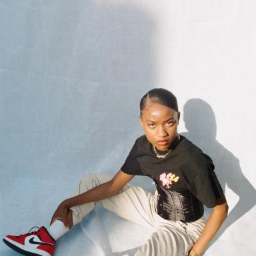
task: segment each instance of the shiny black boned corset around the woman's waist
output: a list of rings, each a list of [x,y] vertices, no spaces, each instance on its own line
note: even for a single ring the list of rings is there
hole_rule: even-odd
[[[192,222],[203,216],[203,203],[189,190],[178,193],[157,186],[157,213],[164,219]]]

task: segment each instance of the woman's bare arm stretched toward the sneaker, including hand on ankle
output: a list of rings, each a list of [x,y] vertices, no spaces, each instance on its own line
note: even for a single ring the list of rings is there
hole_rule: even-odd
[[[134,175],[123,173],[123,171],[120,170],[110,181],[94,187],[93,189],[89,189],[85,193],[65,199],[53,214],[51,224],[56,219],[60,219],[66,227],[72,227],[72,214],[69,208],[113,197],[113,195],[116,195],[133,177]]]

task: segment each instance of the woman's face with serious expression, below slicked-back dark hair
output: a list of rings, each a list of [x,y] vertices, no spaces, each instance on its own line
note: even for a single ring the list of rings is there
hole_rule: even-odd
[[[150,100],[139,118],[148,141],[157,149],[165,151],[177,137],[179,112]]]

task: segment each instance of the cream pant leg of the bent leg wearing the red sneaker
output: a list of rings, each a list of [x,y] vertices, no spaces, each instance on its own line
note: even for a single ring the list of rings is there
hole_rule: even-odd
[[[75,195],[84,193],[110,179],[110,175],[87,175],[79,182]],[[155,226],[155,195],[141,187],[125,185],[117,195],[103,199],[101,203],[109,211],[113,211],[129,221],[145,227]],[[73,225],[79,223],[94,206],[95,203],[93,202],[71,207],[73,211]]]

